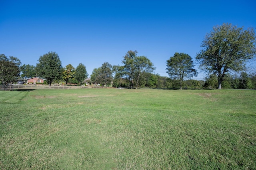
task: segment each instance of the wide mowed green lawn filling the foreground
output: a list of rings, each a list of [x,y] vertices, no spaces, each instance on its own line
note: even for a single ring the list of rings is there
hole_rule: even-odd
[[[256,91],[0,91],[0,169],[256,169]]]

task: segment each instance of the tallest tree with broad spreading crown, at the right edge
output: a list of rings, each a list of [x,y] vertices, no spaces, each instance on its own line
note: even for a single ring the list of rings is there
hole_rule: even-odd
[[[255,43],[253,28],[244,30],[243,27],[224,23],[206,34],[201,44],[203,49],[196,59],[201,69],[218,76],[218,89],[221,89],[228,72],[242,71],[246,61],[255,56]]]

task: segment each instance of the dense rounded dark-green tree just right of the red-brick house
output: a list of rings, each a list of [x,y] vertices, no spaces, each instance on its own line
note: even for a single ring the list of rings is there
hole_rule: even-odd
[[[60,57],[56,52],[48,52],[39,57],[39,63],[36,64],[38,76],[46,79],[49,85],[54,80],[62,79],[62,65]]]

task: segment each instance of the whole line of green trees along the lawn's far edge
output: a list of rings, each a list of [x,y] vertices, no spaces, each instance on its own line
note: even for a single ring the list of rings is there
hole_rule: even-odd
[[[150,88],[235,88],[255,89],[256,73],[246,72],[246,62],[256,54],[256,36],[253,28],[244,30],[232,24],[213,27],[201,43],[201,51],[196,55],[199,68],[206,72],[205,81],[192,80],[198,75],[192,57],[186,53],[174,53],[166,61],[169,77],[154,74],[154,64],[146,56],[138,56],[138,51],[129,50],[122,58],[122,65],[104,62],[94,68],[90,75],[91,85],[114,87]],[[41,77],[51,85],[54,81],[64,81],[81,85],[88,77],[85,65],[76,68],[71,64],[62,67],[56,52],[48,52],[39,57],[39,63],[21,65],[18,58],[0,55],[0,81],[4,85],[21,78]]]

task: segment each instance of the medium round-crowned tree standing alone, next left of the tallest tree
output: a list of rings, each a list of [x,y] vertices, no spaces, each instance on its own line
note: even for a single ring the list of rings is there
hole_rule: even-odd
[[[197,71],[193,68],[195,65],[192,58],[185,53],[174,53],[174,56],[170,57],[166,61],[167,73],[170,78],[176,79],[180,83],[180,89],[182,89],[182,82],[186,78],[197,76]]]

